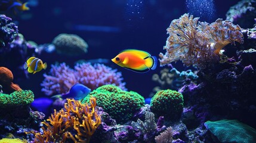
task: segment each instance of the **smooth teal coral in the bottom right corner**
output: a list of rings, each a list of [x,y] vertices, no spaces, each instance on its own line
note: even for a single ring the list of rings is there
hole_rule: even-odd
[[[256,142],[256,130],[238,120],[207,121],[205,126],[220,142]]]

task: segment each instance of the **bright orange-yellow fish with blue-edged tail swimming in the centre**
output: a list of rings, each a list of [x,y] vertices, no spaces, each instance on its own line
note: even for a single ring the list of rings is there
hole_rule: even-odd
[[[115,58],[112,58],[112,61],[125,69],[137,73],[146,73],[150,69],[155,70],[158,63],[158,59],[155,56],[138,49],[125,49]]]

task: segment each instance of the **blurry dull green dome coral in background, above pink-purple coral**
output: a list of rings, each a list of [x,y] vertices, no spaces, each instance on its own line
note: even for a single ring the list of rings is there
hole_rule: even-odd
[[[88,44],[78,35],[62,33],[53,39],[58,54],[76,56],[87,52]]]

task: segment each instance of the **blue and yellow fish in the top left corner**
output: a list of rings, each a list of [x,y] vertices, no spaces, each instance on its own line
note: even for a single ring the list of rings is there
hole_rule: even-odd
[[[0,2],[0,11],[8,11],[11,8],[16,8],[20,11],[29,10],[27,2],[23,3],[20,0],[4,0]]]

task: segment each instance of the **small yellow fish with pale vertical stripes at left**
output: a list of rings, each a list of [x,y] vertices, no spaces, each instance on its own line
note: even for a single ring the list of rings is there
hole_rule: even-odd
[[[47,68],[47,63],[43,64],[42,60],[36,57],[30,57],[27,60],[27,62],[25,62],[24,64],[24,69],[27,69],[29,73],[33,73],[33,74],[46,68]]]

